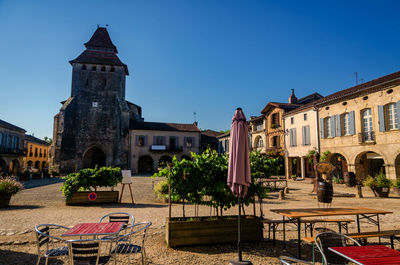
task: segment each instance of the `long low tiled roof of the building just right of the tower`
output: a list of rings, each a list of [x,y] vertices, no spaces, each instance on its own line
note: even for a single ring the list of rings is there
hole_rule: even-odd
[[[145,121],[134,121],[134,120],[132,120],[130,123],[130,129],[149,130],[149,131],[200,132],[199,128],[194,124],[145,122]]]

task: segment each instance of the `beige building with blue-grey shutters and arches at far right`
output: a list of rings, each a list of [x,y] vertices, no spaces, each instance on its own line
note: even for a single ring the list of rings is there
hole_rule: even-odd
[[[400,177],[400,72],[329,95],[316,105],[321,153],[336,174]]]

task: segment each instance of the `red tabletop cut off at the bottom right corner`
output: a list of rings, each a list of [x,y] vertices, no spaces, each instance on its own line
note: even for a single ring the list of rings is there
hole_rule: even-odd
[[[400,252],[382,245],[330,247],[328,249],[359,265],[400,264]]]

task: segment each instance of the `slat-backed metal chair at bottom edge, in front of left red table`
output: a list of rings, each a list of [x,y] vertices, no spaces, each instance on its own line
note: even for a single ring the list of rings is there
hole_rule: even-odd
[[[111,255],[100,255],[102,240],[77,239],[67,242],[71,265],[103,265],[111,258]]]

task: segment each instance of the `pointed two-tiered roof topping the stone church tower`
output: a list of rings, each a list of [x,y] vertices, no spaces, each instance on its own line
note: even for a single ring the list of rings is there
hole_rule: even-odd
[[[69,61],[70,64],[100,64],[111,66],[123,66],[125,74],[129,75],[128,66],[121,62],[117,56],[117,47],[112,43],[106,28],[98,27],[93,36],[85,43],[86,50],[76,59]]]

